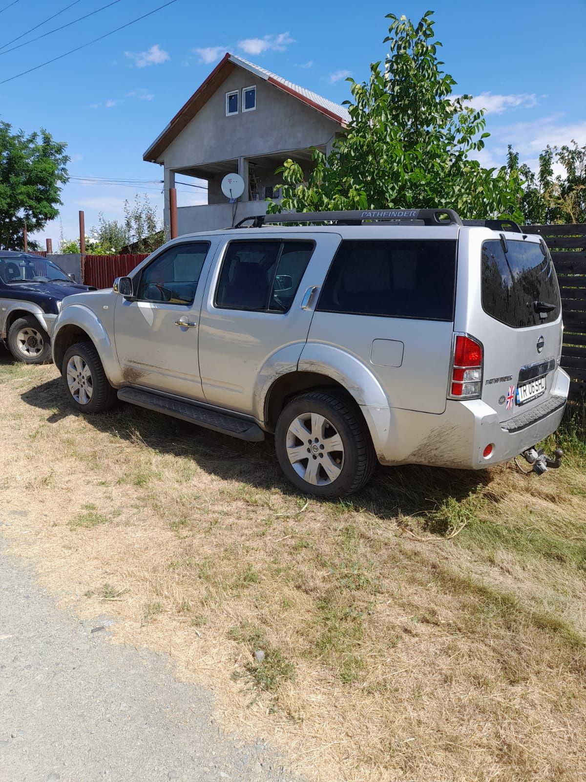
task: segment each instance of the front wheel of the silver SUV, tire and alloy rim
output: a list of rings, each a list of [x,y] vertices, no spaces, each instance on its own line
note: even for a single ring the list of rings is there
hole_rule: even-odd
[[[92,343],[67,348],[61,376],[70,404],[81,413],[103,413],[116,404],[116,389],[110,386]]]

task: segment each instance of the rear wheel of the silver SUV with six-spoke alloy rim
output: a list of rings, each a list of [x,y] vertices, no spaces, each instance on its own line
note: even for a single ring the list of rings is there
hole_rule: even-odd
[[[376,465],[359,411],[327,390],[300,394],[284,407],[275,449],[281,470],[294,486],[328,499],[362,489]]]

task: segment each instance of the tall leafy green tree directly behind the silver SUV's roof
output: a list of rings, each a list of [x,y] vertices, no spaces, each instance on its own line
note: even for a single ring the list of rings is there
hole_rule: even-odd
[[[441,70],[433,12],[415,26],[391,20],[390,52],[370,65],[369,81],[348,79],[352,101],[345,134],[328,156],[313,149],[313,170],[286,160],[282,203],[272,212],[382,207],[456,209],[463,217],[520,217],[520,174],[484,168],[474,155],[484,147],[484,111],[470,96],[456,96],[456,81]]]

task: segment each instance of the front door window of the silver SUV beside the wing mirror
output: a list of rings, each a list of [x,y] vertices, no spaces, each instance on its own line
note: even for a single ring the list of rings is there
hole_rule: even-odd
[[[209,242],[190,242],[166,249],[143,270],[138,299],[192,304]]]

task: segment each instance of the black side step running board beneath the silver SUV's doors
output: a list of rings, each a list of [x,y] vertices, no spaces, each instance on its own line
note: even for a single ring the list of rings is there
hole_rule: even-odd
[[[218,413],[207,407],[200,407],[198,404],[178,402],[168,396],[160,396],[157,393],[133,388],[120,389],[118,399],[130,402],[130,404],[137,404],[138,407],[146,407],[147,410],[157,413],[173,415],[174,418],[181,418],[182,421],[189,421],[191,424],[203,426],[205,429],[213,429],[214,432],[223,432],[249,442],[258,443],[265,439],[263,430],[252,421]]]

